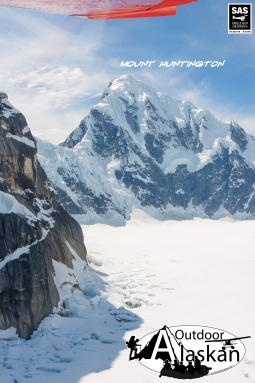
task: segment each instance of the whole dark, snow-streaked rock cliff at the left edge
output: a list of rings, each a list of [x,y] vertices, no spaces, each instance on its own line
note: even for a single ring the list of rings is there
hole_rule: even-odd
[[[55,200],[36,141],[7,98],[0,104],[0,329],[29,338],[59,301],[52,259],[86,261],[78,223]]]

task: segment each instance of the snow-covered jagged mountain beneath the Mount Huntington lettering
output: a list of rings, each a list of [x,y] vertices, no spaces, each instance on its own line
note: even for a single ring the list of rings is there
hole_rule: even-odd
[[[128,75],[38,152],[58,201],[87,222],[129,219],[133,207],[160,219],[255,214],[255,138]]]

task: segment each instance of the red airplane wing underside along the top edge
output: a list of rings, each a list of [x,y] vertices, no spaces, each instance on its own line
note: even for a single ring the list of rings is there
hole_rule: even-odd
[[[174,16],[176,6],[196,0],[0,0],[0,6],[89,19]]]

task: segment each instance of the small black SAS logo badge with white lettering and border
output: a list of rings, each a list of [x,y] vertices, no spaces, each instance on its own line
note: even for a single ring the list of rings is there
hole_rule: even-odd
[[[252,33],[251,4],[228,4],[228,33]]]

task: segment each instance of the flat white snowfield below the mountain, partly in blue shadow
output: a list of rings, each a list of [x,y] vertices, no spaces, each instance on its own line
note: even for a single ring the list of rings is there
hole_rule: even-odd
[[[126,226],[83,225],[89,266],[75,256],[73,270],[54,263],[62,316],[45,318],[28,341],[0,331],[1,383],[155,383],[156,372],[128,360],[125,341],[165,324],[250,335],[241,363],[204,379],[255,382],[254,227],[141,210]]]

